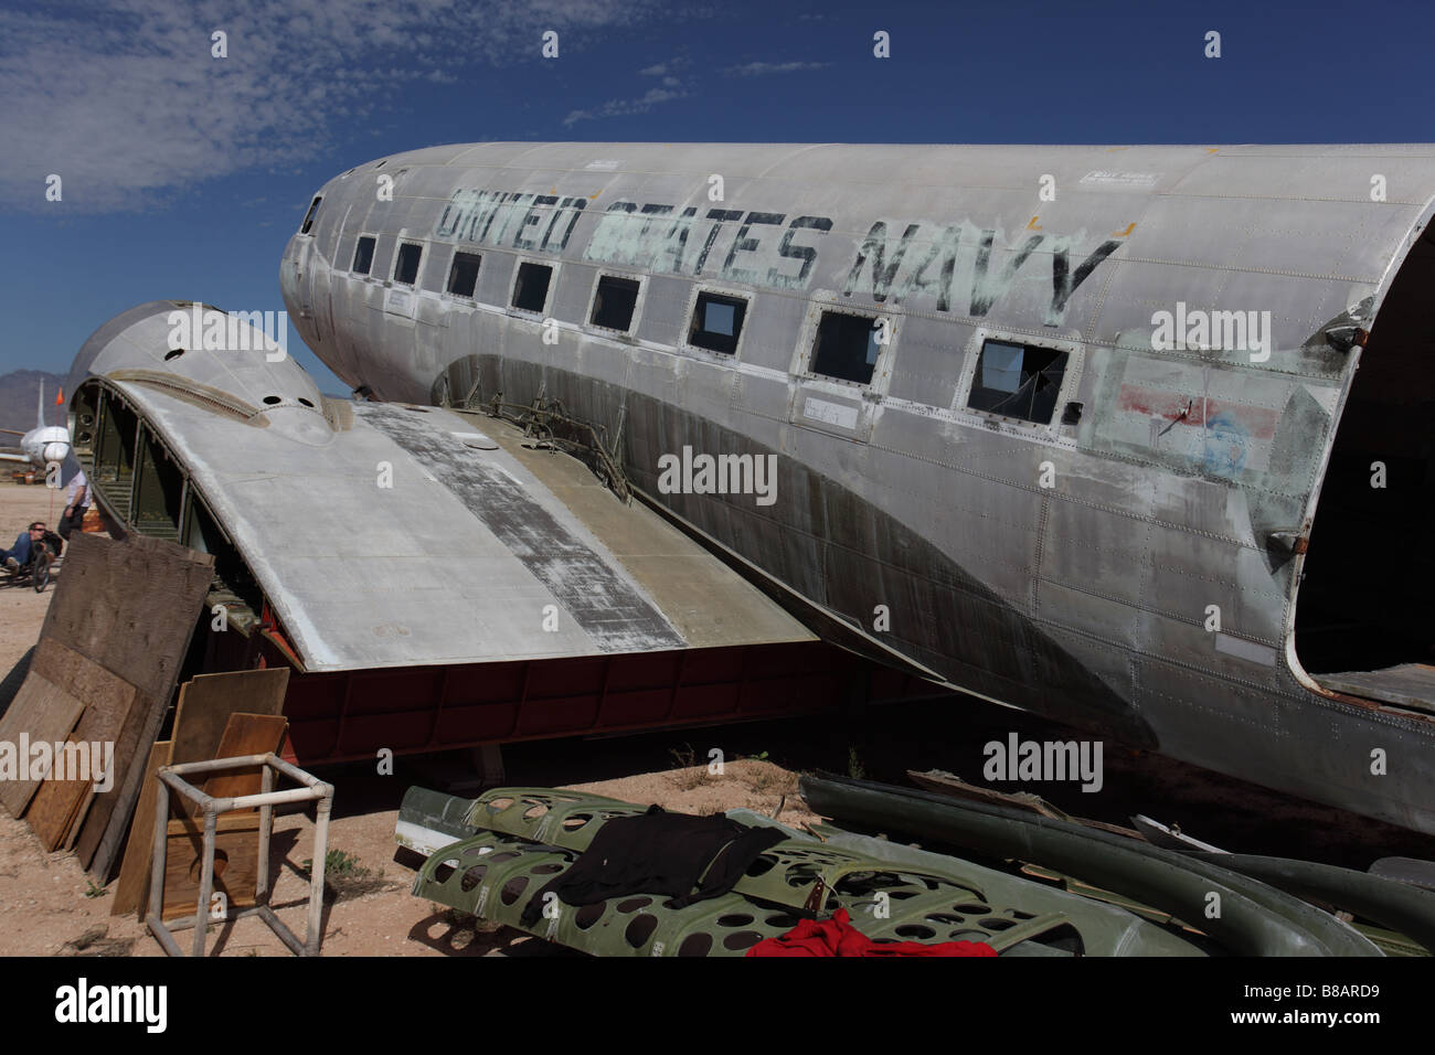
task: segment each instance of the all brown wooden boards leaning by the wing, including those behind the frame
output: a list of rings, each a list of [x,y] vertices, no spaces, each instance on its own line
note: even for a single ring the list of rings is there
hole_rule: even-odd
[[[155,772],[164,765],[264,754],[283,746],[280,712],[288,669],[199,675],[181,686],[172,735],[155,742],[175,680],[202,614],[212,557],[142,535],[115,543],[75,535],[65,574],[40,632],[30,669],[0,716],[0,744],[100,745],[112,772],[52,769],[30,779],[27,758],[0,781],[0,804],[23,817],[46,850],[73,848],[90,877],[105,884],[123,848],[113,914],[148,906]],[[112,745],[112,754],[103,745]],[[148,759],[148,761],[146,761]],[[60,779],[65,777],[66,779]],[[222,774],[205,794],[257,794],[260,772]],[[103,791],[96,791],[96,784]],[[165,919],[192,914],[199,886],[204,818],[169,797]],[[131,825],[131,817],[135,822]],[[129,840],[125,843],[125,833]],[[215,890],[235,907],[254,903],[257,811],[220,817]]]

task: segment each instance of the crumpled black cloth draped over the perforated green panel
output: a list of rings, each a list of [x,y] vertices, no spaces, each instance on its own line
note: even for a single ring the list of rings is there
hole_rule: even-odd
[[[583,857],[532,896],[521,922],[525,927],[538,922],[548,893],[567,904],[666,894],[669,909],[719,897],[758,854],[785,838],[781,828],[749,828],[722,814],[669,814],[659,805],[636,817],[616,817],[593,837]]]

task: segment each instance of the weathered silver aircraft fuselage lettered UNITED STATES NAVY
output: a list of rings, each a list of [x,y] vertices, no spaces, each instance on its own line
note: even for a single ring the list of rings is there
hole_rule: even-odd
[[[1339,510],[1313,531],[1358,362],[1385,372],[1379,399],[1406,375],[1411,395],[1350,418],[1346,461],[1373,445],[1424,479],[1435,149],[482,144],[363,165],[319,197],[281,284],[350,385],[560,399],[621,438],[634,488],[874,657],[1435,831],[1429,716],[1322,693],[1296,649],[1297,590],[1307,609],[1333,597],[1316,622],[1339,617],[1339,567],[1389,548]],[[392,277],[399,241],[422,247],[412,287]],[[445,289],[461,250],[482,255],[472,297]],[[519,263],[554,268],[542,311],[511,307]],[[626,333],[588,322],[603,274],[641,281]],[[689,342],[700,291],[746,300],[732,355]],[[890,323],[868,383],[812,370],[824,311]],[[971,409],[989,337],[1068,356],[1049,423]],[[684,448],[776,458],[776,502],[666,494],[659,458]],[[1432,574],[1386,560],[1373,581],[1402,599]],[[1349,610],[1395,611],[1356,581]],[[1428,649],[1405,600],[1402,647]],[[1369,653],[1379,614],[1360,619]],[[1372,772],[1373,748],[1405,762]]]

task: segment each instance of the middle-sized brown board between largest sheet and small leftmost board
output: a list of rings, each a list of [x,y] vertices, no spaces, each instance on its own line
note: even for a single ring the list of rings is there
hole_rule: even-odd
[[[36,655],[39,656],[39,652]],[[66,751],[76,752],[67,756],[67,765],[63,766],[66,779],[52,777],[44,781],[30,807],[30,827],[46,850],[57,850],[66,841],[70,825],[79,820],[80,804],[85,802],[86,792],[96,782],[93,771],[102,768],[106,761],[106,744],[110,745],[110,766],[118,769],[116,741],[136,696],[133,685],[75,652],[66,650],[66,655],[59,656],[59,663],[62,666],[56,666],[53,673],[65,680],[63,688],[70,695],[83,699],[85,713],[66,744]],[[79,689],[76,690],[75,686]],[[86,695],[80,696],[80,693]],[[76,759],[79,759],[79,765],[76,765]],[[86,772],[77,774],[76,769]],[[56,759],[56,772],[60,771],[62,766]],[[106,787],[113,789],[113,774],[109,775]]]

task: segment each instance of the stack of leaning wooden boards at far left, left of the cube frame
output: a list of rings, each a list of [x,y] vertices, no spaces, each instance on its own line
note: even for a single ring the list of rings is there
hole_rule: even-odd
[[[95,761],[112,759],[103,792],[93,774],[33,779],[29,758],[19,759],[16,779],[0,782],[0,804],[24,817],[47,850],[73,847],[99,883],[118,858],[146,748],[212,577],[214,557],[174,543],[72,535],[29,675],[0,718],[3,744],[75,745],[72,752],[99,744]]]

